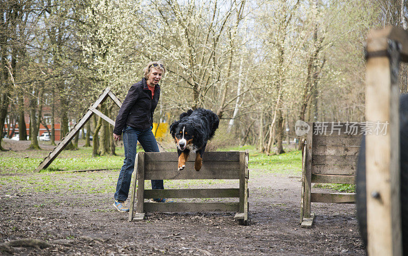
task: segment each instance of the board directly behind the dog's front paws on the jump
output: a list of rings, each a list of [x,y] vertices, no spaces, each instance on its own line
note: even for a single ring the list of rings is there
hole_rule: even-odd
[[[194,158],[195,159],[195,158]],[[159,170],[178,170],[177,169],[178,161],[172,162],[161,162],[161,161],[146,161],[145,162],[145,172],[146,174],[149,172],[156,172]],[[240,162],[239,161],[202,161],[202,166],[199,172],[207,171],[207,170],[214,170],[217,169],[220,172],[223,170],[231,170],[231,169],[239,169]],[[186,167],[184,170],[194,170],[194,161],[186,162]],[[194,172],[196,172],[194,170]]]

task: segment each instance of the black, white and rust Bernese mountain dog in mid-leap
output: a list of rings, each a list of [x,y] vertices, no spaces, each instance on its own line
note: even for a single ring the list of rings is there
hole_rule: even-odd
[[[190,151],[195,152],[194,169],[201,169],[202,155],[206,150],[207,141],[214,136],[219,124],[218,116],[211,110],[197,108],[180,115],[179,121],[170,125],[170,134],[177,145],[179,153],[179,170],[186,167]]]

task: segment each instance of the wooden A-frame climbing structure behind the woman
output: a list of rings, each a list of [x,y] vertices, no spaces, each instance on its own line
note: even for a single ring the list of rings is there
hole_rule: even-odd
[[[92,115],[95,113],[99,117],[103,118],[105,121],[107,121],[109,124],[115,126],[115,121],[104,115],[104,113],[100,112],[97,110],[97,107],[99,104],[103,103],[108,97],[110,97],[118,107],[122,106],[122,102],[116,97],[116,95],[111,91],[111,89],[108,87],[104,90],[104,92],[98,97],[98,99],[88,108],[88,111],[85,113],[85,115],[80,119],[80,121],[72,128],[68,134],[65,135],[65,137],[61,140],[61,142],[58,144],[57,147],[54,148],[53,151],[49,152],[48,156],[42,160],[40,165],[35,169],[35,172],[40,172],[40,170],[48,167],[54,159],[61,153],[61,151],[64,150],[64,148],[68,145],[69,141],[77,135],[79,130],[86,124],[86,122],[92,117]],[[165,151],[160,144],[158,144],[160,152]]]

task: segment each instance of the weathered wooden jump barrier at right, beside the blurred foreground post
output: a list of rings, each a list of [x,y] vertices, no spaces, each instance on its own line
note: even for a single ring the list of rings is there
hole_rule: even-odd
[[[355,203],[355,193],[316,193],[312,183],[355,184],[364,123],[314,122],[302,140],[300,223],[311,226],[311,202]]]

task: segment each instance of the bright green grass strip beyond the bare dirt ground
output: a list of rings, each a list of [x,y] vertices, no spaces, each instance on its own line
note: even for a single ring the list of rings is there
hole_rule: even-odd
[[[252,172],[260,173],[301,173],[301,153],[292,151],[279,156],[268,156],[257,152],[253,146],[230,147],[218,151],[244,151],[249,150],[248,168]],[[142,151],[142,149],[138,149]],[[6,156],[0,155],[0,173],[30,173],[37,168],[48,151],[9,152]],[[79,150],[64,150],[42,172],[56,172],[59,170],[79,169],[120,169],[123,164],[124,149],[117,148],[116,156],[92,157],[92,148]],[[27,156],[26,156],[27,155]]]

